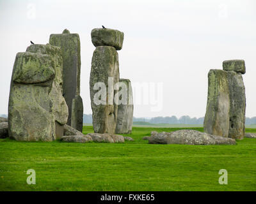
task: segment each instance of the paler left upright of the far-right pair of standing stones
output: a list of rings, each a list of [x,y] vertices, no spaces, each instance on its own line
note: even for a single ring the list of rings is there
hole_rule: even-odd
[[[208,98],[204,119],[205,133],[228,137],[229,110],[228,72],[211,69],[208,73]]]

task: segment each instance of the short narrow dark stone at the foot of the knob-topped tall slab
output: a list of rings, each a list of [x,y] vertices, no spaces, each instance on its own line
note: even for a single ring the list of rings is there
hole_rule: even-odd
[[[76,95],[72,101],[71,127],[83,131],[83,99]]]

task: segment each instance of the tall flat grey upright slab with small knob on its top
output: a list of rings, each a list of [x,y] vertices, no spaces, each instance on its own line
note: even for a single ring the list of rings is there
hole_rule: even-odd
[[[72,126],[73,99],[80,95],[81,55],[79,35],[71,34],[65,29],[62,34],[51,34],[49,43],[61,48],[63,57],[63,96],[68,105],[67,124]],[[77,107],[83,106],[83,100],[76,100],[74,105]],[[74,111],[74,113],[76,114],[77,111]],[[76,114],[76,117],[73,117],[74,127],[72,127],[83,131],[83,122],[81,125],[81,121],[83,121],[83,108],[79,108],[79,113]]]

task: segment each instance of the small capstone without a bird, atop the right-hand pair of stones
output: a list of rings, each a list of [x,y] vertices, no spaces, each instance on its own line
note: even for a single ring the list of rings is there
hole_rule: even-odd
[[[223,70],[236,71],[241,74],[245,74],[245,62],[243,59],[233,59],[223,61]]]

